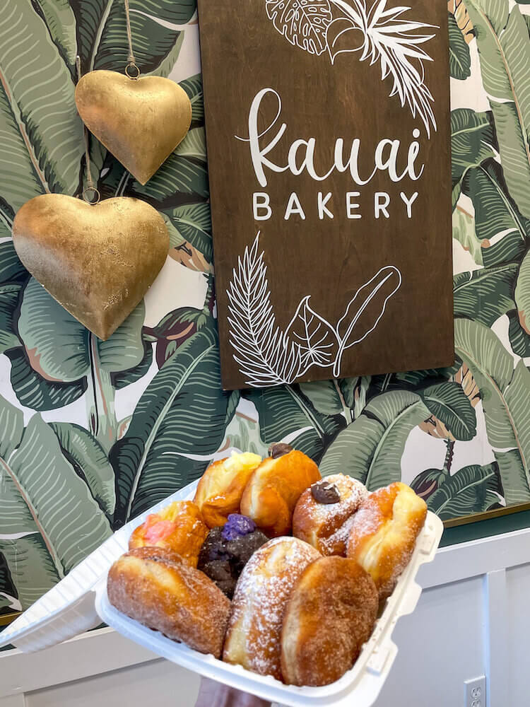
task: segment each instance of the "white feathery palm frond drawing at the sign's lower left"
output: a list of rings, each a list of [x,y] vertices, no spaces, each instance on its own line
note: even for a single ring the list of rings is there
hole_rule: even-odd
[[[259,233],[232,270],[228,288],[228,323],[234,360],[247,385],[290,383],[301,375],[300,346],[276,325],[264,252],[258,254]]]

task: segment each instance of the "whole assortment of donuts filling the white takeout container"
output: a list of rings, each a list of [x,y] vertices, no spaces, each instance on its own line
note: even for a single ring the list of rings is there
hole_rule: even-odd
[[[194,501],[149,515],[110,569],[110,602],[165,636],[286,684],[353,667],[410,561],[425,502],[321,478],[285,444],[211,464]]]

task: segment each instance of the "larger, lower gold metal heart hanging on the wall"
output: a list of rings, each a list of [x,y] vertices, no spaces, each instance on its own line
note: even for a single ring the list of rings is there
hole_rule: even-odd
[[[91,205],[42,194],[18,210],[13,245],[49,294],[105,341],[148,291],[170,239],[162,216],[140,199]]]

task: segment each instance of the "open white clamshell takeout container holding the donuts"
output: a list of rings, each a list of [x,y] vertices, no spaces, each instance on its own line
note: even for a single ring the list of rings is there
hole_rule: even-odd
[[[115,532],[64,580],[2,631],[0,647],[12,643],[25,652],[40,650],[93,629],[104,621],[122,636],[177,665],[271,702],[290,707],[346,707],[351,706],[355,699],[355,707],[372,706],[398,652],[391,638],[394,627],[400,617],[411,614],[418,604],[421,588],[416,583],[416,575],[422,564],[431,562],[435,557],[443,532],[440,518],[428,513],[412,559],[401,574],[353,668],[331,685],[295,687],[249,672],[240,665],[229,665],[213,658],[213,655],[197,653],[129,619],[114,609],[108,600],[107,573],[114,560],[126,552],[134,528],[149,513],[156,513],[167,503],[192,499],[196,484],[195,481],[177,491]]]

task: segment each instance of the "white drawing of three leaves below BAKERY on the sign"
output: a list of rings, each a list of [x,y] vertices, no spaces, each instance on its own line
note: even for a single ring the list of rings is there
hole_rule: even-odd
[[[377,327],[401,287],[401,272],[393,265],[381,268],[358,288],[336,326],[310,306],[306,295],[283,331],[271,303],[265,254],[258,251],[260,233],[238,258],[227,290],[229,340],[240,373],[252,387],[292,383],[312,366],[332,367],[338,378],[344,351]],[[382,303],[378,295],[384,295]]]

